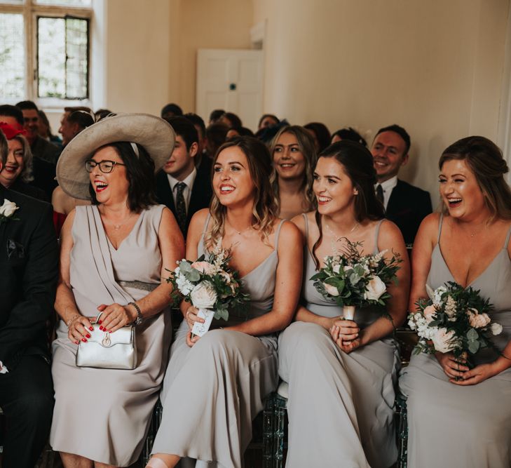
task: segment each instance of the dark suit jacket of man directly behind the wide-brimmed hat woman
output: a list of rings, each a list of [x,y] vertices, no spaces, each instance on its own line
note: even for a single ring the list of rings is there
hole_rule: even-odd
[[[191,217],[198,210],[210,206],[213,191],[211,188],[211,165],[210,159],[205,159],[200,162],[197,168],[197,175],[191,188],[190,203],[186,211],[186,230],[183,232],[184,239],[186,239],[186,232],[190,225]],[[167,174],[162,170],[156,174],[156,196],[159,203],[168,206],[168,208],[176,215],[176,206],[174,203],[174,196],[170,189]]]

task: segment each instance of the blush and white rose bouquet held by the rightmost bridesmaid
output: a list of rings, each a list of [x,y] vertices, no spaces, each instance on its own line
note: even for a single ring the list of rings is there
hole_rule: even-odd
[[[430,299],[418,300],[417,312],[408,316],[410,328],[419,337],[415,354],[453,352],[467,358],[479,349],[495,348],[490,337],[498,335],[502,326],[491,321],[488,312],[493,307],[479,290],[452,281],[435,290],[426,286],[426,290]]]

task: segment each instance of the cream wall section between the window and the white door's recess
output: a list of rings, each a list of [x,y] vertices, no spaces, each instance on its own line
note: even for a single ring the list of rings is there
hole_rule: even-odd
[[[175,0],[107,0],[105,98],[115,112],[159,114],[171,74]],[[95,107],[99,103],[94,102]]]

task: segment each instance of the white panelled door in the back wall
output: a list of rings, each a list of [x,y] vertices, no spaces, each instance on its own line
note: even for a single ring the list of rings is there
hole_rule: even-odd
[[[207,123],[210,112],[237,114],[244,127],[257,130],[263,103],[262,51],[199,49],[196,108]]]

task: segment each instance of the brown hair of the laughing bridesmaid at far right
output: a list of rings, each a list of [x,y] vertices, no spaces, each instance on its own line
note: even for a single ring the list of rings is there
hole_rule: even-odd
[[[489,221],[496,218],[511,220],[511,189],[504,180],[504,174],[509,168],[500,148],[488,138],[466,137],[444,149],[438,161],[440,171],[445,162],[453,159],[465,161],[474,173],[491,213]],[[443,200],[442,211],[448,214]]]

